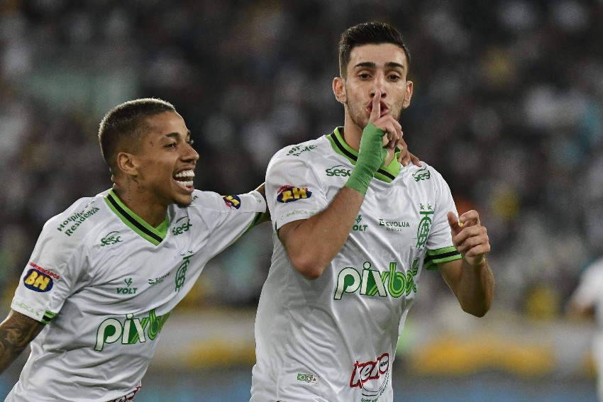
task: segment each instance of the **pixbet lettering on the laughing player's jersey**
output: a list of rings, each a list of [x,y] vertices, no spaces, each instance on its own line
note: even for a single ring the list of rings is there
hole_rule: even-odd
[[[121,345],[144,343],[147,338],[154,340],[161,332],[161,328],[163,328],[168,317],[170,317],[170,313],[157,316],[155,309],[153,309],[149,311],[149,316],[144,318],[134,318],[133,314],[126,314],[126,319],[123,322],[117,318],[107,318],[96,330],[94,350],[101,351],[106,344],[118,340],[121,340]]]

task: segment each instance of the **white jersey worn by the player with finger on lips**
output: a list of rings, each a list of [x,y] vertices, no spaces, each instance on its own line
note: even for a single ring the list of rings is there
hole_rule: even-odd
[[[284,148],[268,164],[275,248],[255,320],[253,402],[392,401],[394,353],[421,272],[460,258],[446,182],[425,163],[394,160],[375,174],[321,277],[296,272],[278,230],[325,209],[348,180],[358,152],[339,130]]]

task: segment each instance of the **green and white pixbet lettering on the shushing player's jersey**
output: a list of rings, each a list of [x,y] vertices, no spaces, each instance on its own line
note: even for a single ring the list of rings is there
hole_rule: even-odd
[[[355,293],[360,290],[363,296],[381,297],[389,296],[398,298],[411,292],[416,293],[416,284],[414,277],[419,272],[419,259],[415,259],[412,269],[406,272],[396,271],[397,263],[389,263],[389,272],[379,272],[370,269],[370,262],[363,264],[363,272],[360,274],[353,267],[345,267],[337,276],[337,288],[335,289],[335,300],[341,300],[344,293]]]

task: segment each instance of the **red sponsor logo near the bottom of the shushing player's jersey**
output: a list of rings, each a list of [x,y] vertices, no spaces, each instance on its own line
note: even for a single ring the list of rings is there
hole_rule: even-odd
[[[383,377],[383,379],[381,379]],[[375,386],[371,382],[375,381]],[[350,377],[350,388],[362,389],[363,396],[379,398],[385,391],[389,381],[389,353],[377,357],[375,361],[354,364],[352,376]],[[368,384],[367,384],[368,383]],[[363,401],[377,401],[377,399],[364,399]]]

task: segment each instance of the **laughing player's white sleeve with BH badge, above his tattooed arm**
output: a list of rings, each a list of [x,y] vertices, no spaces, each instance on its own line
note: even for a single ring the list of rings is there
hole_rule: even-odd
[[[49,220],[21,273],[11,308],[43,324],[60,312],[87,269],[87,252],[78,238],[67,238]]]

